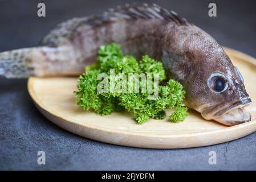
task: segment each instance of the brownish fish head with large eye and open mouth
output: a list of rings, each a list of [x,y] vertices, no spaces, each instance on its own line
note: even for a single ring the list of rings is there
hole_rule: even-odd
[[[203,55],[203,56],[202,56]],[[205,119],[233,126],[251,120],[245,106],[251,104],[243,77],[224,50],[193,56],[197,59],[186,86],[189,107]]]

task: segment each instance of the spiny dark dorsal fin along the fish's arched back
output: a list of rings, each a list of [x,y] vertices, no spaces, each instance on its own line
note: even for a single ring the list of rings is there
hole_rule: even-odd
[[[73,18],[62,22],[43,38],[42,44],[51,47],[68,44],[72,37],[79,32],[78,30],[80,30],[80,28],[89,29],[103,23],[120,19],[162,19],[182,26],[192,25],[188,20],[182,18],[174,11],[168,11],[156,4],[133,3],[132,5],[117,6],[116,9],[109,9],[109,11],[101,15]]]

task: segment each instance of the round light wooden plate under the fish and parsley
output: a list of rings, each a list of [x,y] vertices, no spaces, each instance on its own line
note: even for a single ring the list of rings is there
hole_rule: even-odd
[[[189,110],[184,122],[170,123],[167,119],[150,119],[137,125],[129,113],[113,113],[101,117],[83,111],[76,103],[73,91],[77,78],[31,77],[28,89],[39,111],[56,125],[80,136],[101,142],[145,148],[187,148],[227,142],[256,131],[256,60],[244,53],[225,48],[233,64],[245,78],[246,90],[253,104],[247,106],[250,122],[227,127],[206,121],[199,113]],[[169,114],[169,112],[168,112]]]

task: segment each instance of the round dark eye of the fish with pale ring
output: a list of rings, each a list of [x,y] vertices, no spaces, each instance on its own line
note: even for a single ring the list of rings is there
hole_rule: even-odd
[[[227,79],[221,73],[212,73],[208,78],[208,86],[216,93],[224,92],[227,89]]]

